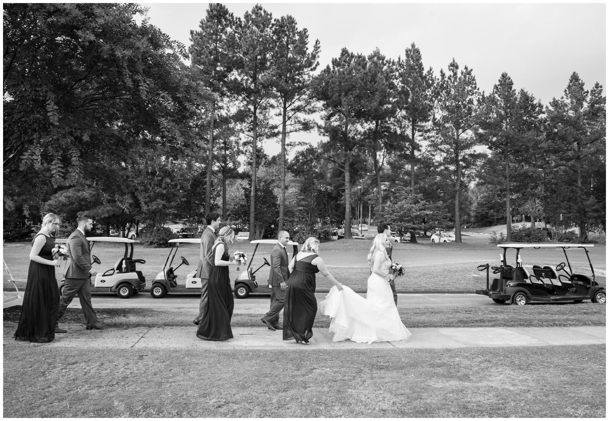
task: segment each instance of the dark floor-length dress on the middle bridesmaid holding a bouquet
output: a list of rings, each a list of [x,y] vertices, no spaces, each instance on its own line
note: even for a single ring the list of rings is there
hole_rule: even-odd
[[[212,256],[216,256],[216,244]],[[228,262],[228,252],[222,254],[222,260]],[[199,322],[197,338],[209,341],[226,341],[233,338],[230,327],[233,318],[234,297],[230,287],[228,266],[216,266],[214,263],[209,270],[209,297],[206,311]]]

